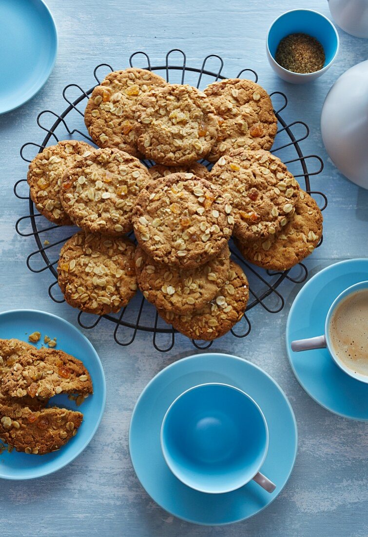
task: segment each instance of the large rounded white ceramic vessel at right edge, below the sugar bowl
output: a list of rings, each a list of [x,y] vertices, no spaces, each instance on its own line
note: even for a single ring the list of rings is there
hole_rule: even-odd
[[[321,133],[336,168],[368,189],[368,60],[345,71],[328,92]]]

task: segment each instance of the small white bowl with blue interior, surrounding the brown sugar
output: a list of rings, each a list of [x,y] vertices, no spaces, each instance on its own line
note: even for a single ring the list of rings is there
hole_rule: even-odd
[[[275,55],[278,43],[286,35],[293,33],[312,35],[312,37],[321,43],[326,56],[325,65],[322,69],[306,73],[292,72],[284,69],[277,63]],[[311,82],[323,75],[335,61],[338,46],[339,40],[335,26],[327,17],[311,9],[286,11],[271,24],[266,39],[266,53],[270,66],[280,78],[292,84]]]

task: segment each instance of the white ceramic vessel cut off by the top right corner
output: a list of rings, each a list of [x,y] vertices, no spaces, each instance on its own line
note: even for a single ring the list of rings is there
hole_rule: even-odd
[[[355,37],[368,38],[368,0],[328,0],[335,23]]]

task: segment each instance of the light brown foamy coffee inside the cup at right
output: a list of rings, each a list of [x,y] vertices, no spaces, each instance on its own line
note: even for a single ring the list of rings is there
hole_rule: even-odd
[[[343,299],[331,316],[329,338],[343,365],[368,376],[368,289]]]

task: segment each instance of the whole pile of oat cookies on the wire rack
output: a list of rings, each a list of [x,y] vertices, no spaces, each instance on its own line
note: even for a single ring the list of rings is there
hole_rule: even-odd
[[[226,79],[202,92],[144,69],[114,71],[94,88],[85,124],[99,148],[59,142],[28,172],[40,213],[81,229],[58,262],[73,307],[117,312],[138,286],[175,329],[215,339],[248,300],[231,236],[245,259],[275,270],[318,244],[317,204],[268,151],[277,120],[260,85]]]

